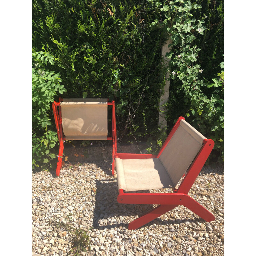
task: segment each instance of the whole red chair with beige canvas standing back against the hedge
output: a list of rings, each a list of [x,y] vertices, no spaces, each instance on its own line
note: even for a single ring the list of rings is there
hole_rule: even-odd
[[[112,106],[112,137],[108,137],[108,106]],[[59,107],[59,112],[57,107]],[[56,176],[60,175],[64,140],[112,140],[112,175],[115,172],[116,116],[115,101],[92,98],[59,98],[52,103],[60,149]]]

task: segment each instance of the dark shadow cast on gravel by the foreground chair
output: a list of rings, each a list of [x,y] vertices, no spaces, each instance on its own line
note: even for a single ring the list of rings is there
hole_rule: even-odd
[[[128,228],[128,223],[137,219],[153,208],[153,205],[148,204],[119,204],[117,202],[118,188],[116,178],[110,180],[96,180],[96,189],[92,224],[93,228],[95,229],[115,229],[119,227]],[[149,191],[143,191],[143,193],[149,193]],[[120,217],[127,216],[131,217],[128,221],[126,220],[123,222],[123,220],[120,220]],[[152,223],[156,223],[156,225],[169,226],[172,224],[182,223],[184,221],[189,221],[190,223],[196,221],[202,223],[205,222],[200,217],[186,219],[185,216],[184,218],[180,217],[180,219],[168,220],[156,218],[156,220],[147,223],[143,227],[150,227]]]

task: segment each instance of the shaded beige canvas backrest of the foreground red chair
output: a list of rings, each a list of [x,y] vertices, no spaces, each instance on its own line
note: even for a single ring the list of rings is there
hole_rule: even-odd
[[[159,156],[174,186],[202,148],[204,139],[206,138],[185,120],[180,121],[178,129]]]

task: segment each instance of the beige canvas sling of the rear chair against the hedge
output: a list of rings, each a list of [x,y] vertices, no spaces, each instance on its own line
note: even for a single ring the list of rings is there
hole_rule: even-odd
[[[64,98],[60,107],[66,140],[107,140],[108,99]]]

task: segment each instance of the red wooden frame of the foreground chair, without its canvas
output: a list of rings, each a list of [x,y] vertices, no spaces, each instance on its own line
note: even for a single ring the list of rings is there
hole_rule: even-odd
[[[164,148],[171,140],[174,132],[180,125],[180,120],[184,117],[180,117],[172,131],[165,140],[162,148],[160,149],[158,155],[149,155],[149,154],[116,154],[114,158],[119,157],[121,159],[142,159],[142,158],[159,158],[162,154]],[[212,148],[214,146],[214,141],[210,139],[204,140],[204,145],[200,149],[196,158],[190,165],[184,179],[182,180],[178,189],[174,189],[173,193],[126,193],[123,189],[119,189],[119,195],[117,196],[117,202],[121,204],[158,204],[157,207],[150,210],[143,216],[139,217],[136,220],[133,220],[128,229],[137,229],[141,226],[147,224],[151,220],[154,220],[166,212],[171,211],[178,205],[184,205],[192,212],[196,213],[205,221],[215,220],[215,217],[211,212],[206,210],[201,204],[197,203],[193,198],[188,196],[188,192],[194,184],[199,172],[203,168],[208,156],[210,155]]]

